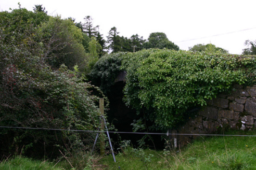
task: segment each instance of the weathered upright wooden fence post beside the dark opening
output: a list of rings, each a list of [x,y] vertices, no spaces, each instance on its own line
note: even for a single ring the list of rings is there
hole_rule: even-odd
[[[100,111],[100,115],[103,116],[104,115],[104,98],[99,98],[99,111]],[[104,131],[104,120],[102,117],[101,118],[101,125],[100,125],[100,131]],[[101,132],[100,136],[99,136],[99,140],[100,140],[100,155],[104,155],[105,154],[105,140],[104,140],[104,133]]]

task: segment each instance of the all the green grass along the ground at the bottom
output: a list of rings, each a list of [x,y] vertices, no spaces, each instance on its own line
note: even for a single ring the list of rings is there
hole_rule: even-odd
[[[0,169],[256,169],[256,137],[200,138],[186,148],[163,151],[126,145],[116,153],[116,163],[112,154],[101,158],[86,153],[68,160],[54,166],[56,163],[16,157],[0,163]]]

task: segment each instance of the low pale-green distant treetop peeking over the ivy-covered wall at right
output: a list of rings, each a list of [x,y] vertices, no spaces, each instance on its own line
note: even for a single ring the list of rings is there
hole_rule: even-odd
[[[227,54],[228,51],[223,49],[223,48],[220,48],[220,47],[216,47],[215,45],[213,44],[207,44],[207,45],[204,45],[204,44],[197,44],[193,47],[189,47],[189,50],[190,51],[194,51],[194,52],[202,52],[202,51],[206,51],[208,53],[215,53],[215,52],[221,52],[222,54]]]

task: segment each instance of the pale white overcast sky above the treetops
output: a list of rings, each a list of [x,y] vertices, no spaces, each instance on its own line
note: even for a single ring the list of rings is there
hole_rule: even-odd
[[[138,34],[147,39],[150,33],[163,32],[183,50],[212,43],[240,54],[247,39],[256,40],[255,0],[2,0],[0,10],[16,9],[18,2],[28,10],[43,5],[48,15],[75,22],[92,16],[104,36],[113,26],[127,38]]]

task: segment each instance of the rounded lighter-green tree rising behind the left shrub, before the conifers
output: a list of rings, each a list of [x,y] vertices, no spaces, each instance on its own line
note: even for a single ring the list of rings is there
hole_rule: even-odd
[[[53,67],[59,68],[65,64],[69,69],[79,65],[85,67],[85,49],[83,46],[83,33],[73,21],[50,17],[49,21],[41,27],[44,36],[45,60]]]

